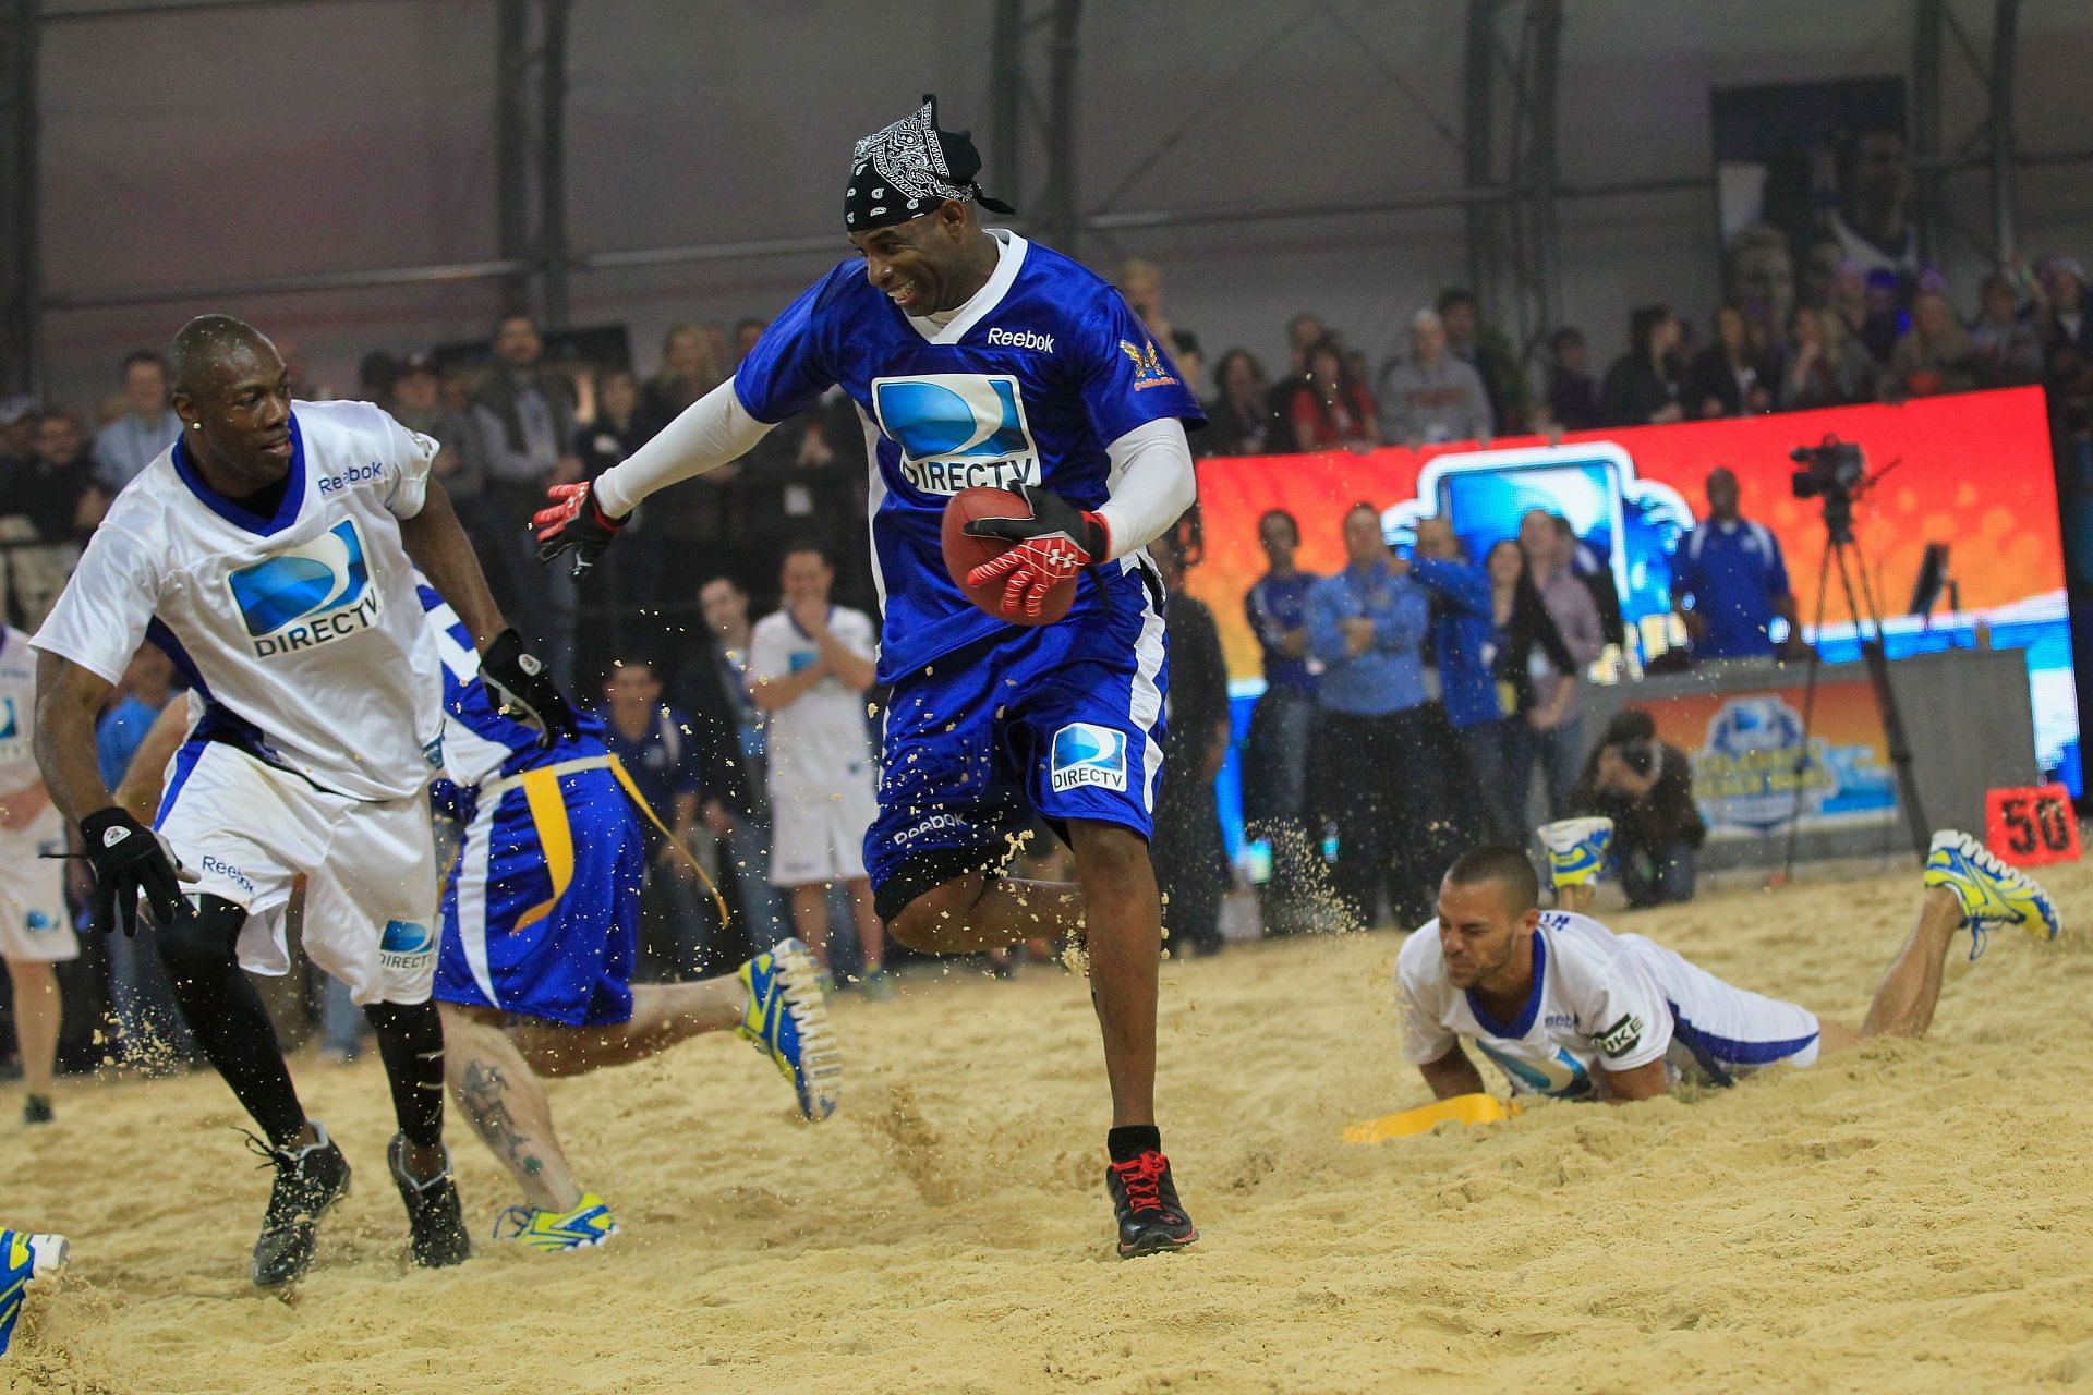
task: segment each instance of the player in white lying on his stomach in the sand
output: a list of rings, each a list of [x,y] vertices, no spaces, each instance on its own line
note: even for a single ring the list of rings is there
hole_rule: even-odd
[[[1681,1077],[1727,1085],[1771,1065],[1806,1067],[1863,1037],[1919,1037],[1957,931],[1972,933],[1972,956],[1999,924],[2041,939],[2062,931],[2030,876],[1967,834],[1934,834],[1917,924],[1852,1029],[1538,904],[1524,851],[1476,849],[1440,883],[1438,918],[1396,956],[1402,1050],[1438,1098],[1482,1092],[1461,1037],[1503,1069],[1513,1094],[1605,1100],[1647,1100]]]

